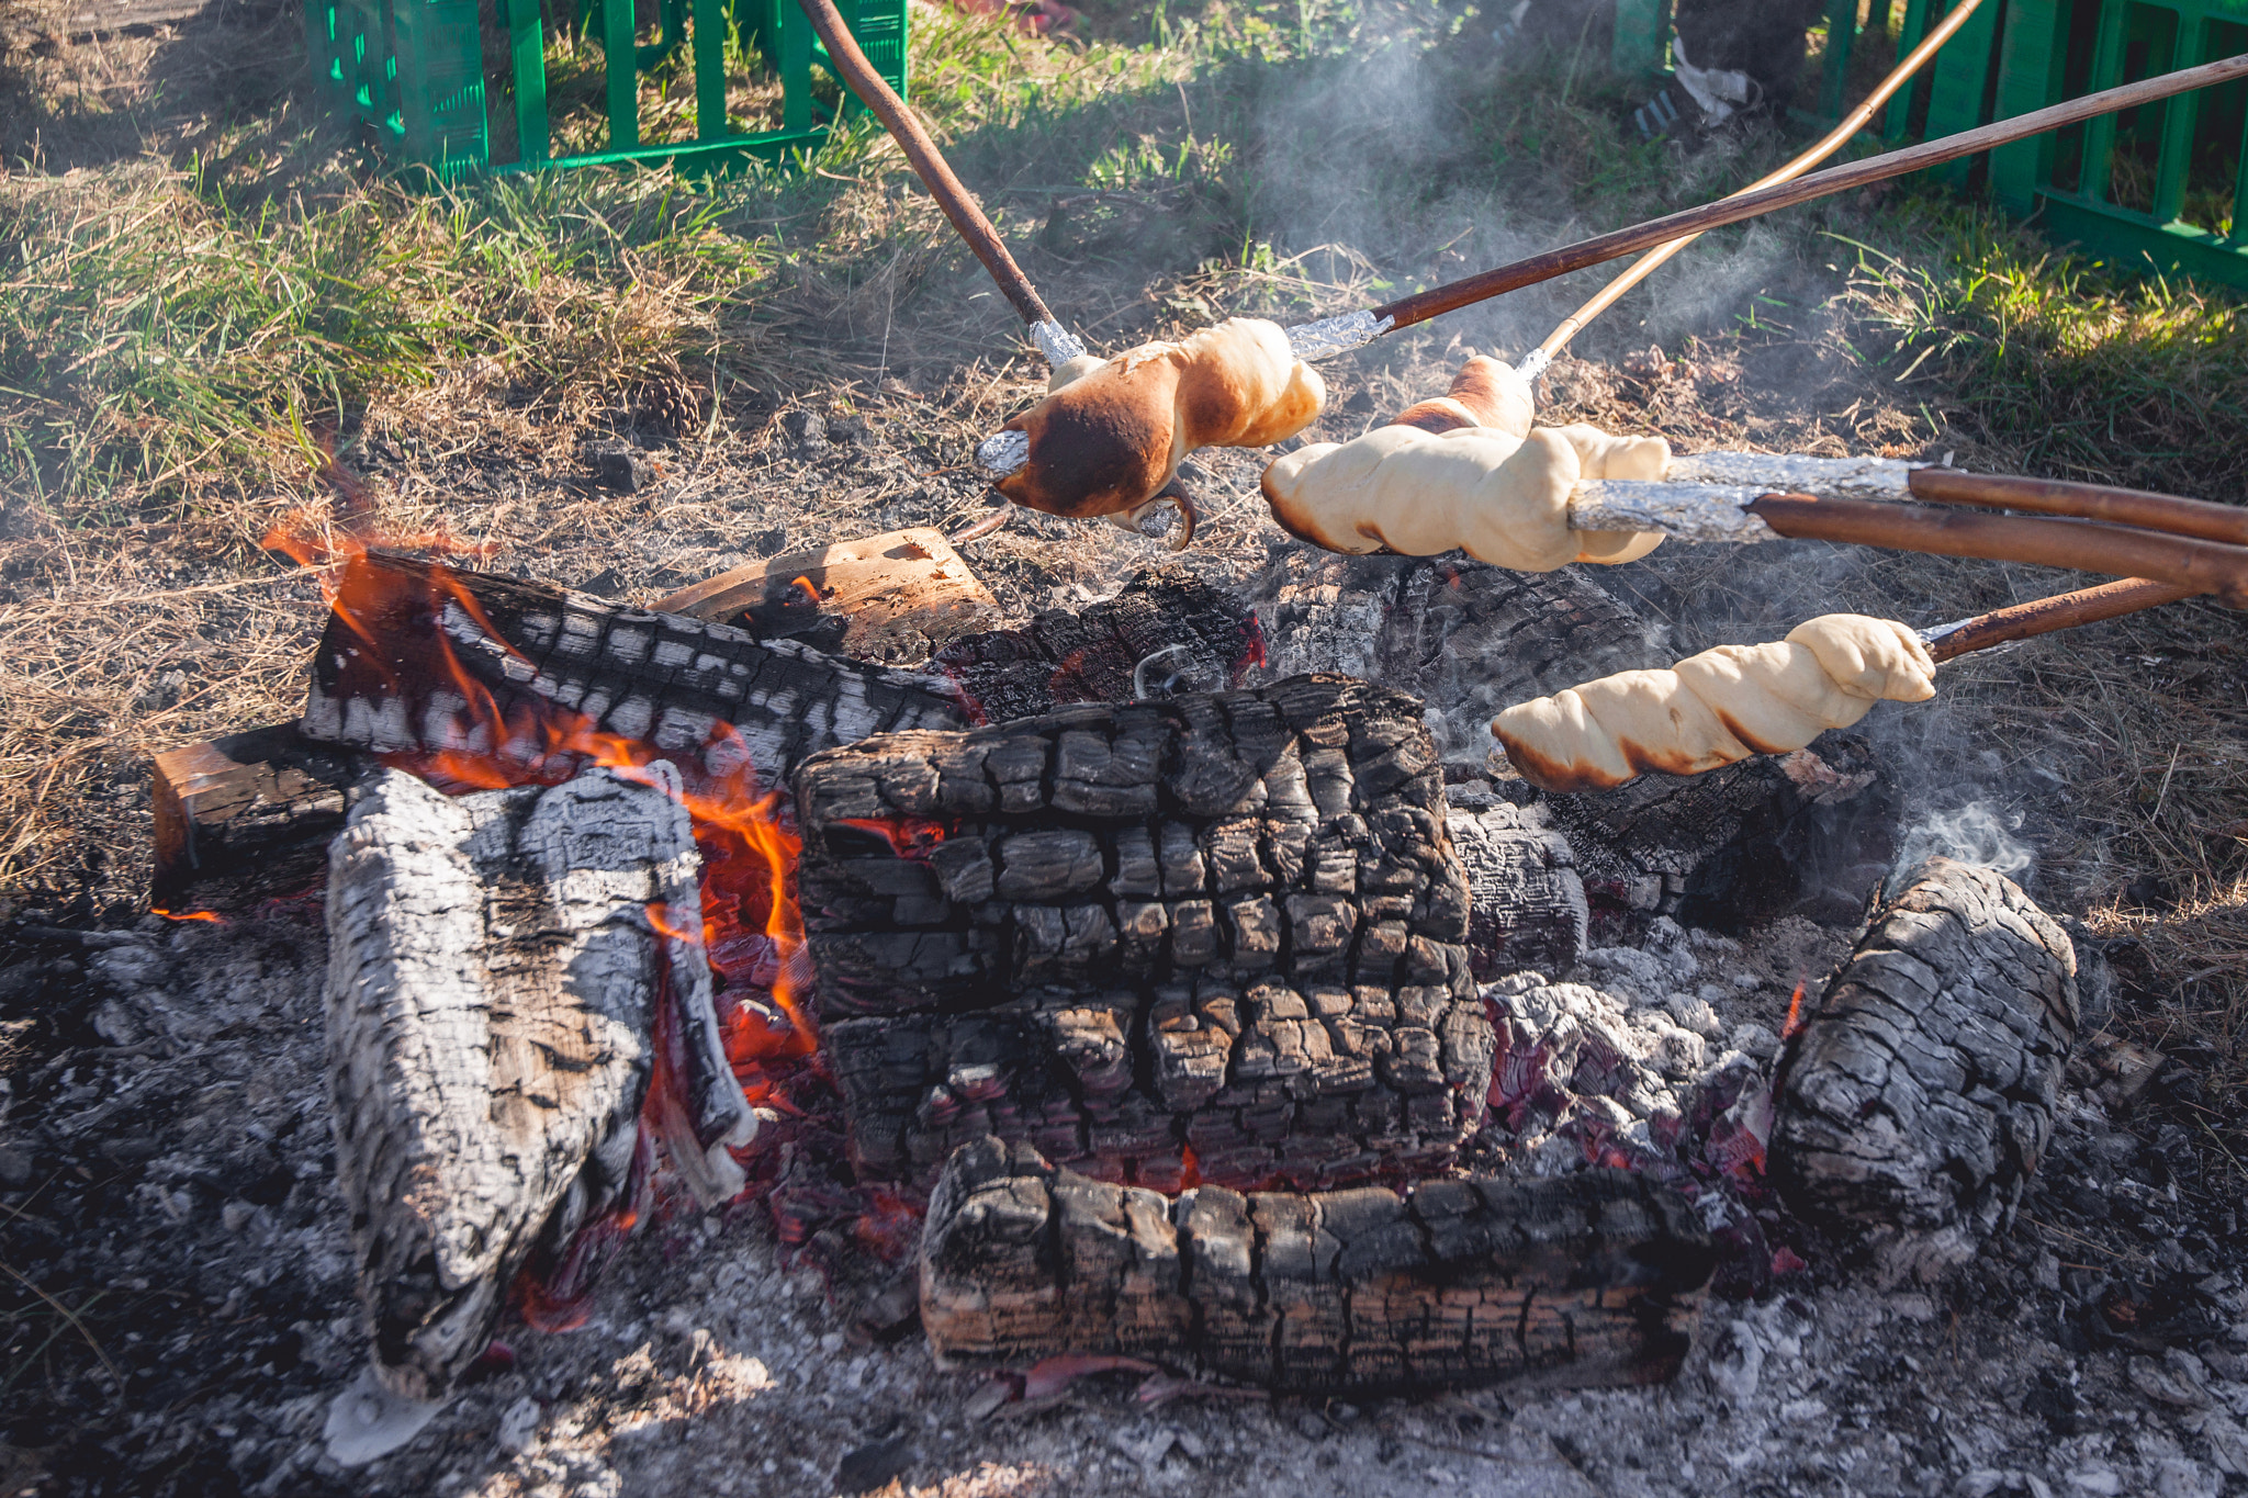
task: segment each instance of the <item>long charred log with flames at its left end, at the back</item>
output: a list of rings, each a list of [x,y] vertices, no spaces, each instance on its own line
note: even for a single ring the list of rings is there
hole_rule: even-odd
[[[470,707],[459,674],[490,707]],[[499,743],[492,707],[506,725]],[[546,584],[366,552],[339,584],[299,728],[317,743],[375,752],[470,750],[531,761],[546,750],[553,707],[695,770],[731,773],[746,755],[764,784],[785,784],[805,755],[834,743],[967,721],[928,676]]]

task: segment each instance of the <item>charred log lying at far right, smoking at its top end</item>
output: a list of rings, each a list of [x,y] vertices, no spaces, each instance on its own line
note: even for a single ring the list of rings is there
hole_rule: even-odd
[[[1884,889],[1783,1058],[1771,1179],[1888,1280],[2003,1228],[2077,1033],[2068,934],[2012,880],[1931,858]]]

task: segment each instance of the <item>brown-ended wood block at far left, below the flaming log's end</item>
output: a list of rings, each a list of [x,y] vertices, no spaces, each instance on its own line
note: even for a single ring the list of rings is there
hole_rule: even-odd
[[[272,723],[155,757],[157,910],[234,912],[319,885],[344,795],[373,766]]]

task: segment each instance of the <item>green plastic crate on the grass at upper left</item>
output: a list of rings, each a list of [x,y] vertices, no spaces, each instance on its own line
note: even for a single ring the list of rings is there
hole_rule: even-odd
[[[438,182],[477,171],[560,171],[623,162],[670,162],[683,168],[722,168],[744,157],[782,159],[814,150],[827,135],[825,110],[812,97],[812,70],[827,49],[794,0],[663,0],[663,31],[641,45],[632,0],[589,0],[587,27],[609,58],[609,148],[551,155],[546,110],[546,25],[540,0],[495,0],[508,31],[515,83],[515,133],[522,155],[492,162],[483,88],[479,0],[306,0],[306,56],[321,92],[364,121],[382,150],[402,166],[418,166]],[[839,0],[843,20],[874,70],[906,94],[906,0]],[[751,34],[780,74],[778,130],[737,135],[726,124],[726,29]],[[695,139],[641,144],[638,72],[672,54],[681,31],[692,36]],[[861,106],[845,90],[845,117]]]

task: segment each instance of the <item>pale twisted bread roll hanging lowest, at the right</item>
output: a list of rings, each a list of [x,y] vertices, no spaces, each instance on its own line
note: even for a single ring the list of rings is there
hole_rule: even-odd
[[[1607,791],[1646,770],[1699,775],[1787,755],[1882,698],[1936,696],[1927,642],[1895,620],[1823,613],[1780,645],[1720,645],[1668,672],[1619,672],[1490,721],[1522,779]]]

